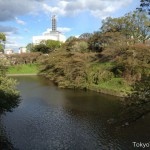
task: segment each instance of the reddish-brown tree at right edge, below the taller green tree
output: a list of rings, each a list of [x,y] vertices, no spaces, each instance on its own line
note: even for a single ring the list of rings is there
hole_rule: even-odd
[[[142,74],[150,75],[150,47],[138,44],[127,47],[114,60],[116,66],[123,68],[122,75],[130,83],[140,80]]]

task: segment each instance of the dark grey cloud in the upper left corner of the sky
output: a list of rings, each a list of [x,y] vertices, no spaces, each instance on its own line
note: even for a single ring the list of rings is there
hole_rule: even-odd
[[[15,20],[15,17],[36,13],[44,0],[0,0],[0,21]]]

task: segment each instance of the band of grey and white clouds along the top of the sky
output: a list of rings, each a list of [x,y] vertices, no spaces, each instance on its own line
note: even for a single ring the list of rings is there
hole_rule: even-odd
[[[133,0],[0,0],[0,21],[15,20],[25,14],[44,11],[51,15],[72,16],[88,11],[95,17],[108,16],[129,6]],[[4,11],[7,10],[7,11]],[[22,20],[18,23],[24,24]]]

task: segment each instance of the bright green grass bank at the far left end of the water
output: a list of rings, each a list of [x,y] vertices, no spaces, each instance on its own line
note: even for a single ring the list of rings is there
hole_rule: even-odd
[[[36,64],[19,64],[10,66],[8,75],[36,75],[38,74],[38,66]]]

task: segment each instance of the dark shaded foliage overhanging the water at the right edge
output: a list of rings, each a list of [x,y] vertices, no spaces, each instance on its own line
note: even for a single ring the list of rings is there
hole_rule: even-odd
[[[123,100],[123,111],[118,122],[132,123],[150,112],[150,76],[143,75],[132,85],[132,92]]]

